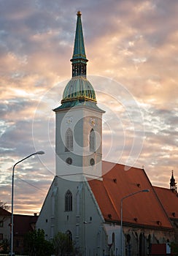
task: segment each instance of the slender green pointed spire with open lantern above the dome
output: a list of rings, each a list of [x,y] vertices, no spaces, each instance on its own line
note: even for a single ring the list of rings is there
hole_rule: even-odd
[[[85,77],[87,73],[86,67],[88,59],[85,55],[81,15],[82,13],[80,11],[77,12],[77,26],[74,39],[74,53],[71,59],[72,78],[80,75]]]

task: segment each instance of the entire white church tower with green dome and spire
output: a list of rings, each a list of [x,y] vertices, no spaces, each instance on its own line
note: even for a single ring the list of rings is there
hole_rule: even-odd
[[[101,178],[102,114],[93,86],[87,79],[81,12],[77,12],[72,78],[55,108],[56,176],[72,181]]]

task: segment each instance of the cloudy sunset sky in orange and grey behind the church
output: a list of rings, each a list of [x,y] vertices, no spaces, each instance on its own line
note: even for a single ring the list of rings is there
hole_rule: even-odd
[[[178,181],[178,1],[0,0],[0,200],[39,213],[55,176],[55,113],[71,78],[77,11],[103,115],[103,159]],[[10,211],[10,208],[9,208]]]

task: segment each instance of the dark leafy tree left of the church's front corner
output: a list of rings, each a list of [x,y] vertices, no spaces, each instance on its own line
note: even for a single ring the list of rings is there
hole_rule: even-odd
[[[53,255],[53,244],[45,240],[44,230],[30,231],[26,236],[26,248],[29,256]]]

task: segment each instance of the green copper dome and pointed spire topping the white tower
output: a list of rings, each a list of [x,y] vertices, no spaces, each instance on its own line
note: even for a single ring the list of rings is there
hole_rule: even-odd
[[[85,56],[85,46],[82,33],[81,12],[77,12],[77,27],[74,39],[74,53],[71,59],[72,78],[67,83],[63,91],[61,106],[54,111],[67,108],[86,107],[104,113],[98,108],[96,94],[93,86],[86,78],[87,61]]]

